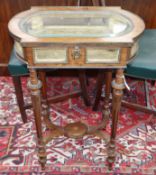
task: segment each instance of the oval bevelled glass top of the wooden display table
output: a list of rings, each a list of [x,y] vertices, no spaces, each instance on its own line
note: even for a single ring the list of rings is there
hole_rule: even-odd
[[[40,11],[23,18],[21,30],[35,37],[115,37],[130,32],[132,22],[105,11]]]

